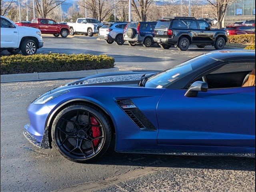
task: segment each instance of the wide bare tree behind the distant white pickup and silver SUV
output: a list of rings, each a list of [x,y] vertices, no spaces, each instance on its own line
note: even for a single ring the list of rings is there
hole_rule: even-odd
[[[114,9],[113,0],[78,0],[78,5],[92,12],[92,17],[103,21]]]

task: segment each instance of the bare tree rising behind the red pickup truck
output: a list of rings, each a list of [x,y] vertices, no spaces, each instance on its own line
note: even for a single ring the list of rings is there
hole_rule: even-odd
[[[38,12],[41,18],[46,18],[46,16],[52,10],[54,10],[54,8],[65,1],[66,0],[35,0],[35,10]]]

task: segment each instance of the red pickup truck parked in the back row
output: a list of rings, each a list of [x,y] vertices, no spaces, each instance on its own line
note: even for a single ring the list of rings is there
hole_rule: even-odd
[[[58,24],[52,19],[32,19],[31,23],[18,22],[15,23],[18,26],[26,26],[38,28],[42,34],[53,34],[55,37],[62,36],[67,37],[70,32],[70,27],[65,24]]]

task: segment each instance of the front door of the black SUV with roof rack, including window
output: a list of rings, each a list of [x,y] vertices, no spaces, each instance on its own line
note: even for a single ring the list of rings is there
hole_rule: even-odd
[[[209,43],[211,44],[214,40],[214,31],[207,30],[210,25],[204,20],[198,20],[198,26],[200,29],[200,42],[201,43]]]

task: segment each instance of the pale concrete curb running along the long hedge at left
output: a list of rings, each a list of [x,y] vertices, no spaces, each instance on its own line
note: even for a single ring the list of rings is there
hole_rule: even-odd
[[[114,67],[110,69],[98,69],[98,70],[9,74],[9,75],[0,75],[0,82],[7,83],[7,82],[19,82],[19,81],[83,78],[83,77],[87,77],[87,76],[95,75],[99,73],[118,72],[118,71],[119,69],[117,67]]]

